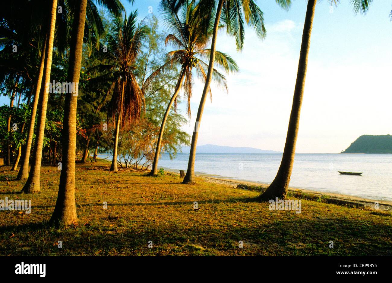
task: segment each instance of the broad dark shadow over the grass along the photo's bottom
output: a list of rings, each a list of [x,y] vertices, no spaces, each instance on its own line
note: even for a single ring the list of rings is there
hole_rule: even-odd
[[[113,222],[114,227],[98,224],[78,226],[73,229],[42,231],[34,245],[47,245],[51,254],[67,255],[390,255],[392,253],[391,231],[387,224],[364,226],[359,219],[312,219],[300,217],[276,219],[267,215],[255,217],[257,224],[238,225],[236,217],[220,221],[219,225],[207,223],[186,224],[149,222],[125,229]],[[184,219],[182,219],[184,220]],[[184,225],[185,223],[185,225]],[[39,231],[44,223],[1,227],[0,231]],[[120,231],[122,229],[122,231]],[[41,233],[41,231],[40,231]],[[46,233],[46,234],[45,234]],[[38,233],[31,233],[38,237]],[[47,241],[45,240],[47,238]],[[60,251],[52,247],[54,239],[63,240]],[[330,248],[330,241],[334,248]],[[41,241],[41,242],[40,242]],[[152,241],[152,248],[148,247]],[[239,241],[243,248],[238,247]],[[50,244],[48,244],[50,243]],[[27,244],[26,245],[32,245]],[[48,250],[47,249],[47,250]],[[45,252],[47,253],[47,250]],[[7,253],[20,252],[8,250]],[[24,252],[38,255],[34,249]]]

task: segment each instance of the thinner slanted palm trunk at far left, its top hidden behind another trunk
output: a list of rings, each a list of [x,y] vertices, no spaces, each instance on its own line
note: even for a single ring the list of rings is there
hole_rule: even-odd
[[[17,180],[25,180],[27,179],[27,177],[29,177],[29,159],[30,159],[31,143],[33,143],[35,116],[37,113],[38,100],[40,99],[42,77],[44,76],[46,41],[47,39],[45,38],[44,47],[42,48],[42,52],[41,52],[41,64],[40,64],[40,70],[38,72],[37,84],[34,93],[33,108],[31,109],[29,133],[27,134],[26,148],[24,152],[24,157],[22,159],[23,160],[22,166],[20,166],[18,177],[16,177]]]

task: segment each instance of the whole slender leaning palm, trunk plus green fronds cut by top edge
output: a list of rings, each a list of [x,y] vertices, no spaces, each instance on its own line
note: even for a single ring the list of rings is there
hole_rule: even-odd
[[[161,5],[164,9],[176,13],[181,6],[185,5],[187,0],[162,0]],[[217,3],[218,2],[218,3]],[[276,2],[284,8],[288,8],[290,0],[276,0]],[[204,18],[215,17],[214,29],[212,32],[211,51],[209,56],[208,71],[205,79],[205,85],[203,93],[201,95],[200,105],[196,116],[196,122],[194,131],[192,134],[191,150],[189,153],[189,161],[187,174],[183,180],[184,184],[194,183],[194,162],[196,158],[196,145],[198,140],[198,130],[200,129],[201,116],[203,115],[205,101],[207,99],[207,93],[210,89],[212,73],[214,70],[214,62],[216,56],[216,38],[218,36],[218,29],[220,26],[220,20],[222,18],[225,23],[227,33],[234,36],[236,39],[237,50],[243,48],[243,42],[245,39],[245,22],[251,25],[256,34],[260,38],[264,38],[266,35],[263,12],[256,5],[254,0],[199,0],[195,8],[195,17],[193,21],[200,21]]]

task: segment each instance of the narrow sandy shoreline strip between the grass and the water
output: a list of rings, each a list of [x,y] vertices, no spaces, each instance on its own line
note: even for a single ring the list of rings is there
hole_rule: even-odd
[[[170,172],[172,174],[180,175],[180,173],[172,171],[173,169],[164,168],[164,167],[162,167],[162,168],[165,171]],[[237,188],[237,186],[239,184],[250,185],[250,186],[261,186],[261,187],[265,187],[265,188],[267,188],[269,186],[269,184],[266,184],[266,183],[258,183],[258,182],[254,182],[254,181],[244,181],[244,180],[235,179],[235,178],[216,177],[216,175],[212,175],[212,174],[202,173],[202,175],[200,175],[200,173],[195,173],[195,176],[200,179],[203,179],[206,182],[222,184],[222,185],[228,186],[230,188]],[[303,188],[289,187],[290,192],[295,192],[297,190],[301,190],[304,193],[308,193],[308,194],[315,195],[315,196],[327,196],[331,199],[336,199],[339,201],[352,202],[352,203],[356,203],[356,204],[363,204],[365,206],[365,208],[370,208],[372,210],[377,210],[374,208],[374,205],[376,202],[378,202],[379,210],[392,212],[392,201],[367,199],[367,198],[363,198],[363,197],[357,197],[354,195],[345,195],[343,193],[319,192],[319,191],[308,190],[308,189],[303,189]]]

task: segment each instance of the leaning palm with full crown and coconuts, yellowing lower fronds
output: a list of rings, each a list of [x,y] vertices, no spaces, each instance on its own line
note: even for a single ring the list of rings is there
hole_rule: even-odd
[[[180,76],[178,77],[177,84],[174,88],[174,93],[169,101],[166,108],[165,115],[163,115],[161,128],[159,131],[158,141],[156,144],[154,162],[152,163],[152,170],[149,173],[150,176],[155,176],[158,173],[158,160],[161,153],[162,137],[165,130],[165,124],[167,117],[169,116],[170,109],[174,104],[174,110],[176,110],[177,97],[180,93],[181,85],[183,85],[183,91],[188,101],[187,114],[191,115],[190,99],[192,97],[192,68],[196,69],[198,77],[205,82],[207,77],[206,72],[208,70],[208,64],[203,59],[208,59],[211,50],[206,48],[211,40],[214,21],[211,18],[206,18],[203,21],[193,21],[194,12],[196,5],[191,2],[187,2],[187,5],[182,6],[180,16],[178,14],[172,14],[171,11],[165,10],[165,20],[167,26],[172,30],[172,34],[166,37],[165,45],[171,43],[176,50],[167,53],[167,62],[159,68],[156,72],[152,73],[150,77],[145,81],[143,86],[147,86],[155,74],[158,74],[165,66],[180,64]],[[223,27],[221,25],[220,27]],[[207,28],[207,33],[205,30]],[[226,72],[238,72],[238,66],[236,62],[227,54],[220,51],[216,51],[215,64],[220,66]],[[224,75],[218,72],[216,69],[212,71],[212,79],[214,79],[224,90],[227,91],[227,84]],[[211,89],[209,90],[210,98],[212,99]]]

